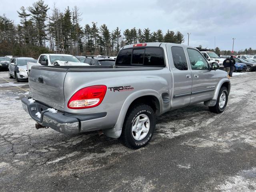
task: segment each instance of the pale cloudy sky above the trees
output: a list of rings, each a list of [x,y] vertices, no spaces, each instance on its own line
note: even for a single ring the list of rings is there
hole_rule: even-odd
[[[16,10],[31,6],[33,0],[0,0],[1,12],[14,23],[20,18]],[[234,50],[252,47],[256,49],[256,0],[45,0],[61,11],[75,5],[82,12],[82,26],[98,22],[110,30],[117,26],[150,28],[151,32],[168,29],[182,32],[184,44],[232,50],[232,38],[236,38]]]

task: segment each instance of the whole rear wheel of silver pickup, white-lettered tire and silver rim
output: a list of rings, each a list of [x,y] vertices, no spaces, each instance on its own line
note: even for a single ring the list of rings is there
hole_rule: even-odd
[[[156,115],[154,110],[146,104],[139,104],[128,110],[121,139],[124,145],[129,148],[141,148],[149,143],[155,127]]]

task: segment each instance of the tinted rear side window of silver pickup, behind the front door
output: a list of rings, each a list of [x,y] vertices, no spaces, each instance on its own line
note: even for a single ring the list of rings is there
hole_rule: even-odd
[[[182,47],[172,47],[172,59],[178,70],[188,70],[188,63]]]

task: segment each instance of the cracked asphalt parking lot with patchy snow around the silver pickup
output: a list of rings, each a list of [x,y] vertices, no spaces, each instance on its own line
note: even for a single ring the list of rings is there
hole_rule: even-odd
[[[202,103],[170,111],[131,150],[95,132],[36,130],[20,102],[28,82],[0,72],[0,191],[255,192],[256,72],[235,75],[222,114]]]

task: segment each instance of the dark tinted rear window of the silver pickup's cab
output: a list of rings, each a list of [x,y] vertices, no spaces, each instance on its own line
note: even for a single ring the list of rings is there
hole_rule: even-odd
[[[164,67],[164,52],[160,47],[123,49],[118,53],[116,65]]]

